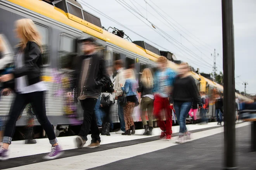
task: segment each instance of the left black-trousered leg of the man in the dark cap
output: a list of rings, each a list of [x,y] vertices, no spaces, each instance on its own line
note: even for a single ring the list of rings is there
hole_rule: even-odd
[[[83,108],[83,123],[81,126],[81,130],[78,133],[78,136],[80,136],[83,140],[87,141],[87,135],[91,128],[93,114],[95,114],[94,107],[97,103],[97,99],[86,98],[85,100],[80,100],[80,102],[81,102],[81,106]],[[93,119],[93,121],[94,121],[94,119]]]

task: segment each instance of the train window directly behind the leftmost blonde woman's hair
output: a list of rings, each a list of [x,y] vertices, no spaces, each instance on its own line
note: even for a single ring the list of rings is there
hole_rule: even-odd
[[[42,63],[43,65],[49,64],[49,29],[47,27],[44,27],[42,25],[36,24],[36,27],[38,29],[38,32],[40,33],[40,36],[42,37]]]

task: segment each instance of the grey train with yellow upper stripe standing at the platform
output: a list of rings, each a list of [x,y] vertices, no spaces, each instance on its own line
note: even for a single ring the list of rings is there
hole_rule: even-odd
[[[62,0],[52,3],[50,0],[0,0],[0,34],[3,34],[8,46],[13,51],[18,42],[15,36],[15,21],[22,18],[32,19],[38,28],[43,41],[43,80],[47,84],[46,97],[47,117],[54,126],[55,133],[66,131],[72,124],[79,124],[82,119],[82,110],[77,104],[75,118],[64,114],[65,97],[62,84],[57,78],[71,73],[74,57],[81,54],[78,39],[81,36],[93,37],[102,47],[101,53],[112,65],[117,59],[122,59],[125,67],[133,65],[137,80],[140,80],[144,68],[155,68],[160,51],[144,41],[130,42],[116,34],[104,30],[100,18],[90,14],[82,8],[76,0]],[[168,67],[178,69],[178,64],[168,60]],[[214,95],[223,93],[223,86],[191,71],[199,91],[206,92],[210,99],[207,117],[214,119]],[[236,93],[240,100],[250,100]],[[1,97],[0,120],[6,121],[13,95]],[[140,95],[138,95],[140,99]],[[199,112],[197,112],[199,115]],[[140,122],[139,106],[133,113],[135,122]],[[112,121],[118,123],[117,104],[112,107]],[[16,126],[26,125],[26,112],[24,111]],[[39,125],[35,119],[35,125]]]

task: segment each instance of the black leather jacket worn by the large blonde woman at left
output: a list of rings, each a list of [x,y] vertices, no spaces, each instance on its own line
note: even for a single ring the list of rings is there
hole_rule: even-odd
[[[18,53],[21,49],[19,48]],[[26,48],[23,50],[23,66],[20,68],[15,67],[12,71],[14,78],[26,76],[26,85],[33,85],[42,81],[42,53],[40,46],[35,42],[29,41]],[[16,58],[14,58],[16,60]],[[5,88],[14,88],[14,81],[6,82]]]

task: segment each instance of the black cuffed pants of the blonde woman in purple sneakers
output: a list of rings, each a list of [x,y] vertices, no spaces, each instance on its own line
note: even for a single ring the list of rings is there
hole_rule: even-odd
[[[10,138],[9,139],[10,141],[8,143],[10,144],[11,138],[14,135],[16,121],[28,103],[31,103],[31,106],[35,112],[36,118],[38,119],[38,122],[41,124],[41,126],[45,130],[45,133],[47,134],[48,139],[50,140],[50,143],[52,145],[57,143],[53,126],[49,122],[46,116],[45,91],[16,94],[16,97],[13,100],[13,103],[10,109],[9,120],[7,121],[5,133],[4,133],[4,136]]]

